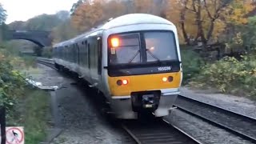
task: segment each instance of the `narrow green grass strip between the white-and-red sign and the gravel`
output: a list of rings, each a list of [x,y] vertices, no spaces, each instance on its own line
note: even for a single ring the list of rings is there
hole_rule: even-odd
[[[47,116],[50,112],[50,95],[42,90],[32,90],[25,105],[26,143],[38,143],[46,139]]]

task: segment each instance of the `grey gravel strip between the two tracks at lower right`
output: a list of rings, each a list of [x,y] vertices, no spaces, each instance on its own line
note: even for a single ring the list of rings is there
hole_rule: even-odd
[[[245,141],[234,134],[230,134],[226,130],[219,129],[216,126],[210,126],[208,123],[183,113],[180,110],[173,110],[170,116],[166,117],[166,120],[202,143],[250,144],[250,142]]]

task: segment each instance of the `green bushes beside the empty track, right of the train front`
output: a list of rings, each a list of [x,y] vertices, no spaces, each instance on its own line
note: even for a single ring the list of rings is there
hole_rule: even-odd
[[[238,57],[206,62],[190,48],[183,48],[183,85],[199,89],[214,88],[226,94],[256,98],[255,23],[256,17],[249,18],[248,25],[236,27],[244,33],[238,33],[226,42],[226,50],[242,51]]]

